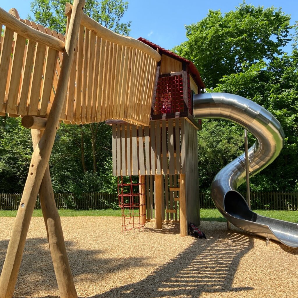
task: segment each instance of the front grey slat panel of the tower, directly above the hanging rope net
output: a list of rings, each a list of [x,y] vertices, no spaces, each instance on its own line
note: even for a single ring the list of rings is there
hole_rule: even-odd
[[[185,150],[181,148],[184,145],[181,126],[185,121],[183,118],[157,120],[151,121],[149,127],[112,125],[113,175],[182,173]]]

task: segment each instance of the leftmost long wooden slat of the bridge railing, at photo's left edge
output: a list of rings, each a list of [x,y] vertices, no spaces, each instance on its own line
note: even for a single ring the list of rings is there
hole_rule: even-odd
[[[5,27],[1,55],[0,55],[0,112],[4,111],[4,97],[9,72],[9,63],[11,62],[11,45],[13,42],[13,31]]]

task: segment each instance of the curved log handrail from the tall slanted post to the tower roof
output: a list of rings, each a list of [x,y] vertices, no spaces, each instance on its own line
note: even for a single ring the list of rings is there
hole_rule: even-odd
[[[70,17],[71,13],[72,13],[72,5],[70,3],[66,3],[65,15]],[[86,28],[88,28],[89,30],[93,31],[97,36],[105,40],[108,40],[115,44],[121,44],[122,46],[128,46],[128,47],[138,49],[148,54],[156,61],[160,61],[162,59],[161,55],[159,55],[159,53],[156,52],[156,50],[152,49],[147,44],[144,44],[142,41],[138,41],[137,39],[117,34],[109,30],[108,28],[103,27],[102,25],[94,21],[92,18],[89,18],[89,16],[87,16],[86,14],[83,14],[81,24]]]

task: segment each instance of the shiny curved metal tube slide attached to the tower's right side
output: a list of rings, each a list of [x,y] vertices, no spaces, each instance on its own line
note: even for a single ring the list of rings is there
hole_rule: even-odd
[[[249,148],[249,176],[267,167],[279,155],[284,131],[278,120],[257,103],[228,93],[204,93],[193,97],[194,117],[220,118],[246,128],[256,138]],[[227,164],[214,177],[211,197],[216,208],[234,226],[298,247],[298,224],[264,217],[252,212],[237,188],[246,181],[245,154]]]

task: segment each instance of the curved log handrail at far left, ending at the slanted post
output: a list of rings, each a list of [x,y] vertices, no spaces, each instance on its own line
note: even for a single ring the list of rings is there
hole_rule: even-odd
[[[16,19],[10,13],[7,13],[1,7],[0,23],[4,26],[9,27],[11,30],[25,38],[28,38],[45,46],[49,46],[50,48],[55,49],[57,51],[64,51],[65,43],[63,41],[27,26],[26,24]]]

